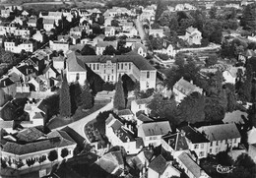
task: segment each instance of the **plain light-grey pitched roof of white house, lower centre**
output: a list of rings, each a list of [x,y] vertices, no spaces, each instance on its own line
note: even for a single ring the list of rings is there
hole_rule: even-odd
[[[143,123],[139,126],[138,130],[142,130],[146,137],[159,135],[163,136],[168,132],[171,132],[168,121]]]

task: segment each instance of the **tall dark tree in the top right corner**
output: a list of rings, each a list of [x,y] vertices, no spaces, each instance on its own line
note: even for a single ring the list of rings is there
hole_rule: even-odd
[[[244,30],[254,31],[256,29],[256,5],[249,4],[247,5],[242,13],[242,18],[240,21],[240,26]]]

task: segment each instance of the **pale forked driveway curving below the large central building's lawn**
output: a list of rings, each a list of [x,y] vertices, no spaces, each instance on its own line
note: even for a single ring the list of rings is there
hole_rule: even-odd
[[[107,111],[107,110],[111,110],[113,108],[113,100],[111,100],[111,102],[109,102],[108,104],[106,104],[104,107],[96,110],[96,112],[76,121],[73,122],[71,124],[56,128],[54,130],[60,130],[66,126],[69,126],[70,128],[72,128],[74,131],[76,131],[79,135],[81,135],[83,138],[85,138],[87,140],[88,143],[90,143],[90,141],[88,140],[88,138],[86,137],[85,134],[85,126],[87,125],[87,123],[89,123],[90,121],[96,119],[96,116],[99,114],[99,112],[103,112],[103,111]]]

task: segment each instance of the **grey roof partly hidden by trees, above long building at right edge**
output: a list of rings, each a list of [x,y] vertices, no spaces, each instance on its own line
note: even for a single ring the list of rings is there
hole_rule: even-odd
[[[242,116],[244,116],[247,119],[248,114],[246,112],[242,112],[240,110],[235,110],[232,112],[226,112],[224,114],[224,123],[244,123]]]

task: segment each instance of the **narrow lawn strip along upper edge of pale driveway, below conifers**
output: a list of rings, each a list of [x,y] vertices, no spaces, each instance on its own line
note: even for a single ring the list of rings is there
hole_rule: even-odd
[[[70,119],[64,119],[64,118],[60,117],[60,115],[58,115],[55,118],[51,119],[47,123],[47,127],[49,129],[56,129],[58,127],[62,127],[62,126],[71,124],[72,122],[76,122],[76,121],[96,112],[96,110],[104,107],[109,102],[110,102],[109,99],[96,101],[95,106],[87,111],[83,111],[82,108],[79,107],[76,110],[76,113]]]

